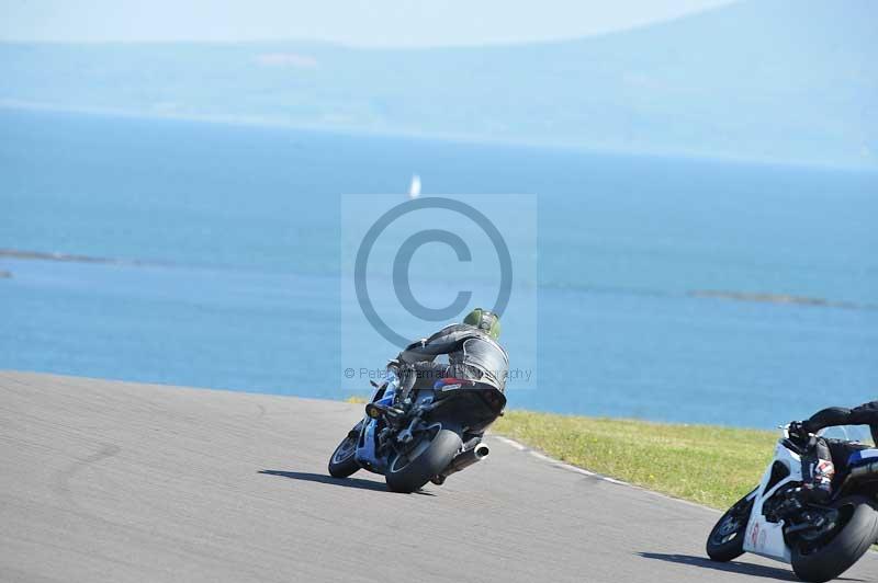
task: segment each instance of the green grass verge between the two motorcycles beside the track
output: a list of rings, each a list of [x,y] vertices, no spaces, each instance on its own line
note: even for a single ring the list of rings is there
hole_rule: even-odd
[[[507,411],[491,431],[582,468],[725,510],[762,478],[776,432]]]

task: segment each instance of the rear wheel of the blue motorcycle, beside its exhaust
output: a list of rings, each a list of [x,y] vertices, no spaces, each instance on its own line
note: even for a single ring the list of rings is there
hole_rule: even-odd
[[[463,445],[460,435],[437,423],[408,451],[394,454],[384,479],[394,492],[414,492],[446,469]]]

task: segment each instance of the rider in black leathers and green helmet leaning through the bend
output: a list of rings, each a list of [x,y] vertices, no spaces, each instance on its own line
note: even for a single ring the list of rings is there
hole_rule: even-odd
[[[431,387],[442,378],[476,380],[503,391],[509,357],[497,343],[499,335],[499,317],[475,308],[462,323],[447,325],[429,338],[413,342],[389,363],[401,380],[401,401],[405,402],[416,384]],[[441,355],[448,356],[448,364],[437,362]]]

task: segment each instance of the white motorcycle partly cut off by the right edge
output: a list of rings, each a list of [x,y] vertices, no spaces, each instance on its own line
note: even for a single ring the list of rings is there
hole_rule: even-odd
[[[710,531],[708,556],[724,562],[752,552],[791,564],[809,582],[830,581],[856,563],[878,541],[878,449],[840,431],[844,438],[836,441],[856,450],[835,476],[826,503],[802,500],[802,457],[808,453],[786,425],[759,485]]]

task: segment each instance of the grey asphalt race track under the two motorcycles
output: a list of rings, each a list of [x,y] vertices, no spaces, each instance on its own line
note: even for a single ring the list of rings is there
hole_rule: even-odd
[[[497,437],[416,494],[326,475],[361,405],[0,373],[3,582],[793,581],[703,558],[717,513]],[[869,553],[845,574],[878,580]]]

